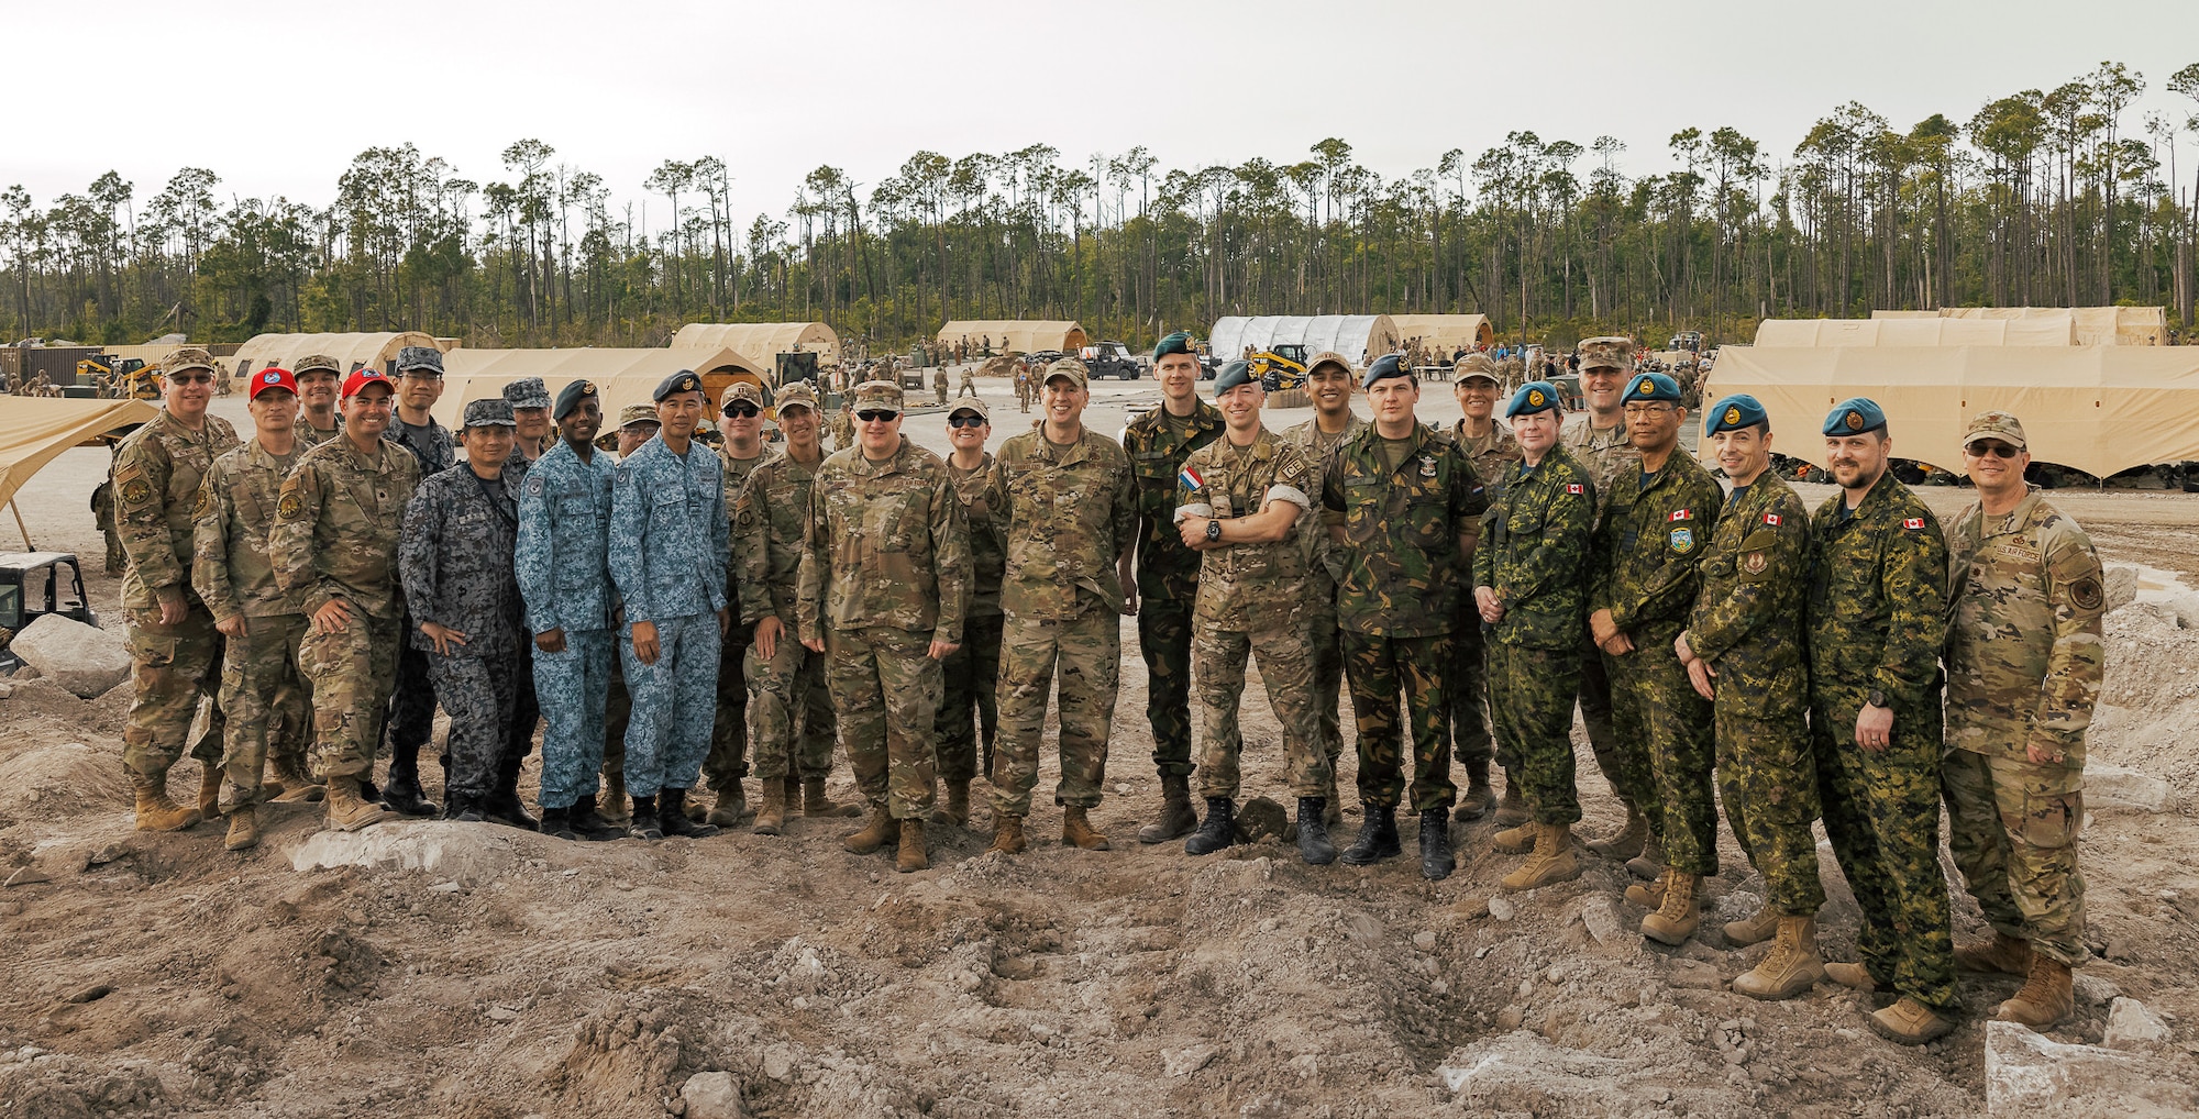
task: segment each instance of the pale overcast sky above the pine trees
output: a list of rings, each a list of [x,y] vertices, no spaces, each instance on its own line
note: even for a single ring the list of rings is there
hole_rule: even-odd
[[[183,165],[226,196],[323,207],[372,145],[411,141],[473,180],[532,136],[642,198],[666,158],[715,154],[745,224],[831,163],[862,187],[917,152],[1049,143],[1064,163],[1143,143],[1163,167],[1302,158],[1344,136],[1394,178],[1511,130],[1627,143],[1669,165],[1689,125],[1786,158],[1854,99],[1907,130],[2052,88],[2102,59],[2146,110],[2199,62],[2199,4],[1086,0],[576,2],[4,0],[15,90],[0,185],[40,204],[108,169],[143,202]],[[26,92],[29,90],[29,92]],[[2190,180],[2190,139],[2179,154]],[[658,202],[662,204],[662,202]],[[655,224],[655,222],[651,222]]]

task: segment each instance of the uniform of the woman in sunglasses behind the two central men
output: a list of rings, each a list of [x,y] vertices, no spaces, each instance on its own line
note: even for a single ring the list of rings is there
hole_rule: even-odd
[[[1007,517],[1007,495],[985,455],[974,470],[948,459],[954,497],[970,523],[970,616],[963,618],[963,644],[943,662],[946,699],[939,703],[939,780],[972,780],[979,772],[979,739],[992,758],[1001,728],[994,690],[1001,684],[1001,572],[1007,569],[1007,539],[1001,521]]]

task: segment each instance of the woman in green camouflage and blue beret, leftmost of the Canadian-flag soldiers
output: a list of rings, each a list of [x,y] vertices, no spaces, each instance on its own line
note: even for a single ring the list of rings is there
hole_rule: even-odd
[[[1531,890],[1581,873],[1572,855],[1572,824],[1581,820],[1572,703],[1581,686],[1596,481],[1561,442],[1566,411],[1557,385],[1522,385],[1504,416],[1520,462],[1504,470],[1489,541],[1473,552],[1473,605],[1489,627],[1498,750],[1517,765],[1528,800],[1528,822],[1500,831],[1491,844],[1531,853],[1504,875],[1506,890]]]

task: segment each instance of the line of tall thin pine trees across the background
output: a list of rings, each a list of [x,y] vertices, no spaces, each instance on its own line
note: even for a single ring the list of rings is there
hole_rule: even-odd
[[[662,345],[686,321],[822,319],[899,347],[946,319],[1080,319],[1146,343],[1220,314],[1482,312],[1506,339],[1746,341],[1759,317],[2118,301],[2188,328],[2199,160],[2179,169],[2177,149],[2199,112],[2133,130],[2144,90],[2104,62],[1907,130],[1852,101],[1788,154],[1684,128],[1676,169],[1640,176],[1612,136],[1535,132],[1399,178],[1344,139],[1234,167],[917,152],[869,189],[818,167],[745,224],[717,156],[620,193],[537,139],[493,178],[369,147],[328,207],[224,198],[207,167],[150,198],[108,171],[44,207],[0,191],[0,334]],[[2199,108],[2199,64],[2166,90]]]

